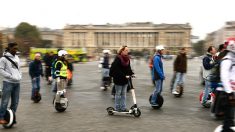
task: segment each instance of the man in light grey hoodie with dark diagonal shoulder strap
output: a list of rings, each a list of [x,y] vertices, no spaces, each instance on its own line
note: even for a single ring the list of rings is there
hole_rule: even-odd
[[[18,44],[11,42],[8,44],[3,57],[0,59],[0,74],[3,76],[2,100],[0,107],[0,124],[6,124],[4,116],[11,98],[10,109],[16,112],[19,103],[20,80],[22,73],[20,70],[20,59],[16,55]],[[16,120],[13,122],[16,124]]]

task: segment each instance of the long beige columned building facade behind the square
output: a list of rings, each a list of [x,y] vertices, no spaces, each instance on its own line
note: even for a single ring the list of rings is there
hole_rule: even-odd
[[[139,51],[153,51],[156,45],[164,45],[170,54],[182,47],[191,49],[191,26],[188,23],[67,25],[63,33],[63,47],[86,48],[90,55],[103,49],[115,51],[122,45]]]

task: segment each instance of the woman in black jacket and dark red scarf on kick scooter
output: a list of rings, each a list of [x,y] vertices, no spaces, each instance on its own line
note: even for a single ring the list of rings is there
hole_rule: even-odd
[[[128,55],[129,49],[127,46],[122,46],[118,50],[118,55],[111,64],[109,75],[113,77],[115,85],[115,110],[126,112],[126,92],[128,85],[128,78],[134,75],[131,65],[130,57]]]

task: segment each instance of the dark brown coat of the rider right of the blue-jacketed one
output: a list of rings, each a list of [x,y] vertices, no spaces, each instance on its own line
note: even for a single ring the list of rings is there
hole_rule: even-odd
[[[187,56],[185,54],[180,53],[179,55],[177,55],[174,61],[174,71],[180,73],[187,72]]]

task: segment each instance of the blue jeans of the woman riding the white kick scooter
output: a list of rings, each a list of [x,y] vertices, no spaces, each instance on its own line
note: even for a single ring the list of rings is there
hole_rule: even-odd
[[[127,84],[115,85],[115,110],[122,111],[126,109],[126,90]]]

